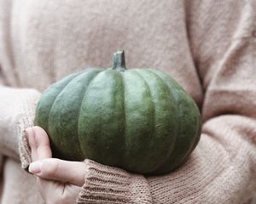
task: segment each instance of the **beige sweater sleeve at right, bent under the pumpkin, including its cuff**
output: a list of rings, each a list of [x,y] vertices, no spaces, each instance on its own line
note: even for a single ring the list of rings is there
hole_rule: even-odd
[[[183,167],[157,177],[86,161],[78,203],[240,204],[256,192],[255,1],[188,2],[205,91],[198,146]]]

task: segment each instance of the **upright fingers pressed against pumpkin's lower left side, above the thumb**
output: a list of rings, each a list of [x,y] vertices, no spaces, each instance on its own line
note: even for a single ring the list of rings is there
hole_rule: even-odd
[[[32,161],[51,158],[49,138],[43,128],[38,126],[27,128],[26,135],[32,150]]]

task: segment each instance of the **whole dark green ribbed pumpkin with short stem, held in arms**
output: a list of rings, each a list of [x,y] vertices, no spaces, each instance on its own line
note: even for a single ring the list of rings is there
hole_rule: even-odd
[[[85,158],[143,174],[169,173],[185,162],[201,135],[194,100],[166,73],[90,68],[55,82],[41,96],[35,124],[49,135],[53,156]]]

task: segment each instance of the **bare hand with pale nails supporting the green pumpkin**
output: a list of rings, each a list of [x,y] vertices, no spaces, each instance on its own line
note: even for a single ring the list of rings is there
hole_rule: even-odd
[[[86,165],[79,161],[54,159],[47,133],[41,127],[26,129],[32,150],[28,171],[37,177],[37,186],[46,203],[75,203],[84,184]]]

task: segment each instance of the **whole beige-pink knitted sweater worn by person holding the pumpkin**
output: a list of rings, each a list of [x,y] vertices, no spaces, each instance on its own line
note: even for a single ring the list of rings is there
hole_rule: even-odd
[[[143,177],[86,160],[77,203],[248,203],[256,191],[256,1],[0,0],[2,202],[44,203],[23,130],[40,93],[125,49],[195,99],[201,140],[175,172]],[[3,160],[4,156],[4,160]],[[21,167],[20,167],[21,161]]]

